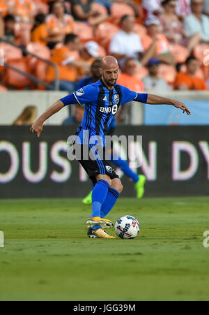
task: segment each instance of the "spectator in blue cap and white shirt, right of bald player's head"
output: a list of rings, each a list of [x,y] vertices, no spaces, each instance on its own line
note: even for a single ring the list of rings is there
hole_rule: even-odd
[[[171,91],[170,85],[159,76],[160,60],[152,58],[148,61],[147,68],[149,75],[142,79],[145,91]]]

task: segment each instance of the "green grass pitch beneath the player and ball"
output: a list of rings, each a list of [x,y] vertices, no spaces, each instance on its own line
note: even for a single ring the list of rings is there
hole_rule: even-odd
[[[0,300],[209,300],[209,198],[118,200],[134,240],[90,240],[77,199],[1,200]],[[114,235],[114,230],[109,230]]]

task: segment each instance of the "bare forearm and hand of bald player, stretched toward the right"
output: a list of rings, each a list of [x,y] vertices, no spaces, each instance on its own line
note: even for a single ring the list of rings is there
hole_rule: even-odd
[[[146,103],[150,105],[160,105],[160,104],[173,105],[174,107],[179,108],[180,110],[183,110],[183,114],[186,112],[187,115],[191,115],[190,110],[187,108],[187,106],[184,103],[180,101],[172,100],[170,98],[164,98],[161,96],[148,94]]]

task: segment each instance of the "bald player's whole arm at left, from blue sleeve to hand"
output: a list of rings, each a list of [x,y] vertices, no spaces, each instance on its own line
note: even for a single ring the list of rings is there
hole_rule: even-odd
[[[65,105],[72,105],[75,103],[82,105],[84,103],[93,102],[97,99],[97,96],[98,89],[94,85],[87,85],[86,87],[61,98],[59,101],[56,101],[56,103],[47,108],[47,110],[45,110],[45,112],[36,119],[36,122],[34,122],[31,126],[31,133],[35,133],[38,137],[40,137],[44,122],[56,112],[59,112],[59,110],[61,110]]]

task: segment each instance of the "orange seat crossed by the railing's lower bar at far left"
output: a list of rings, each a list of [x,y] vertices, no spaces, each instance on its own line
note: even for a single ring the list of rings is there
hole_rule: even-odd
[[[14,66],[20,71],[23,71],[24,73],[31,74],[28,58],[10,59],[8,60],[8,64],[10,66]],[[29,78],[26,78],[24,75],[6,67],[4,67],[2,81],[3,85],[9,85],[10,87],[15,87],[16,89],[24,89],[24,87],[31,85],[31,80]]]

